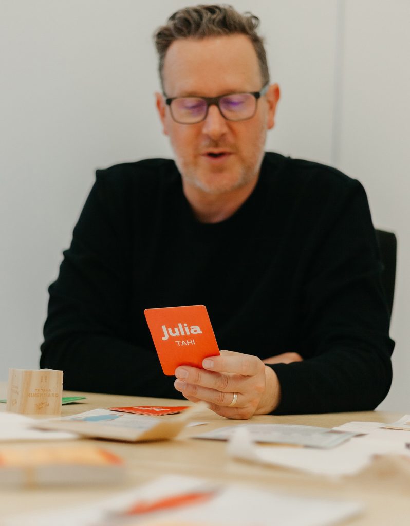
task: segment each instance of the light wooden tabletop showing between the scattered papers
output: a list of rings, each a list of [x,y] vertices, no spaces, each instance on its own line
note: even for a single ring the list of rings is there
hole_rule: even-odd
[[[96,395],[93,393],[65,392],[64,396],[84,395],[79,403],[65,405],[63,416],[95,408],[137,405],[181,405],[181,400],[161,398]],[[187,402],[189,403],[189,402]],[[0,411],[5,404],[0,404]],[[289,416],[257,416],[247,422],[307,424],[334,427],[352,420],[392,422],[402,413],[383,411],[306,414]],[[167,418],[167,417],[162,417]],[[129,478],[115,487],[42,488],[27,490],[2,490],[0,493],[0,517],[16,511],[44,510],[57,506],[87,503],[107,497],[114,491],[123,491],[161,476],[162,474],[185,474],[201,476],[218,481],[254,484],[258,487],[311,497],[328,497],[358,500],[364,503],[365,512],[360,517],[343,524],[354,526],[396,526],[410,524],[410,478],[384,471],[383,467],[371,468],[361,474],[341,481],[329,481],[322,477],[308,476],[282,468],[262,467],[231,460],[227,457],[226,443],[213,440],[194,440],[194,434],[233,426],[244,421],[227,420],[205,410],[195,414],[196,421],[207,421],[201,428],[191,427],[174,440],[130,444],[98,441],[100,446],[111,450],[126,460]],[[86,442],[96,442],[86,440]],[[2,447],[7,447],[2,444]],[[274,514],[274,510],[272,510]],[[274,515],[273,515],[274,516]],[[1,519],[0,519],[1,525]]]

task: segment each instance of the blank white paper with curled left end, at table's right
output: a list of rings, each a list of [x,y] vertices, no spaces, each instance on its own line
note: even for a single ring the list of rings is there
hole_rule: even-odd
[[[341,477],[354,475],[371,463],[375,454],[401,454],[410,457],[404,442],[354,437],[334,449],[261,447],[252,442],[246,429],[238,430],[228,443],[229,456],[256,463],[296,469],[307,473]]]

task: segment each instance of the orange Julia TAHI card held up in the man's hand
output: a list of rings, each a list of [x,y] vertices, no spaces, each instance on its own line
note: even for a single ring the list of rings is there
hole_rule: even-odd
[[[180,365],[202,369],[202,360],[219,355],[204,305],[145,309],[145,318],[165,375]]]

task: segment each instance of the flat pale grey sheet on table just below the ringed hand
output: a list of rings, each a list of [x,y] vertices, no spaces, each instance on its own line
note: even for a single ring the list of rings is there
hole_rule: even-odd
[[[194,438],[228,440],[238,429],[246,429],[255,442],[293,444],[321,449],[334,448],[354,436],[354,433],[337,433],[327,428],[313,426],[239,424],[198,434]]]

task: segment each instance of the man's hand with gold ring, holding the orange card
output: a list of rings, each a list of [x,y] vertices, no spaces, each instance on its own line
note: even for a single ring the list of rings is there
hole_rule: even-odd
[[[217,414],[238,419],[270,413],[278,406],[279,381],[260,358],[223,350],[221,356],[205,358],[202,366],[205,370],[185,365],[175,370],[175,389],[188,400],[204,400]]]

